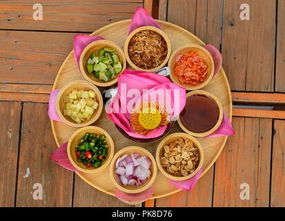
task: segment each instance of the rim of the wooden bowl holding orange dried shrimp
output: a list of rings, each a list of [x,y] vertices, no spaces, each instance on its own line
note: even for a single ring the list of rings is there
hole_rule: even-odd
[[[206,81],[202,82],[202,84],[198,84],[195,86],[190,86],[188,84],[181,84],[179,81],[177,81],[177,79],[175,79],[175,77],[173,77],[173,72],[172,72],[172,68],[171,68],[171,62],[173,61],[173,59],[175,59],[175,55],[179,54],[179,52],[181,50],[184,50],[186,48],[198,48],[199,50],[203,50],[206,55],[210,58],[210,65],[212,66],[212,70],[210,72],[210,75],[208,77],[208,79],[206,79]],[[190,49],[189,49],[190,50]],[[215,70],[215,64],[214,64],[214,60],[212,55],[210,55],[210,52],[208,52],[208,50],[206,50],[206,48],[199,46],[198,44],[186,44],[184,46],[181,46],[179,48],[177,48],[175,51],[172,52],[169,60],[168,60],[168,68],[170,69],[170,79],[177,85],[182,86],[183,88],[186,88],[186,90],[198,90],[200,88],[204,88],[204,86],[206,86],[210,80],[213,78],[214,75],[214,70]]]

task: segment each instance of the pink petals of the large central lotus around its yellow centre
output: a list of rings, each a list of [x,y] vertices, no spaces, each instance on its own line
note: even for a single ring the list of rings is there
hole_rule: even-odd
[[[139,97],[135,97],[134,99],[133,97],[126,96],[126,93],[132,89],[139,91]],[[158,93],[161,91],[163,93]],[[173,120],[179,115],[186,104],[185,88],[177,86],[167,77],[155,73],[139,72],[129,69],[124,70],[118,78],[118,93],[110,103],[108,117],[131,137],[155,138],[166,131],[167,126],[160,126],[151,131],[148,135],[141,135],[132,131],[132,127],[130,126],[131,113],[130,110],[128,110],[132,107],[128,107],[127,104],[129,104],[130,100],[135,103],[144,101],[144,97],[146,96],[151,98],[149,100],[150,102],[157,102],[157,100],[163,101],[163,105],[170,119]],[[126,111],[121,113],[120,108]]]

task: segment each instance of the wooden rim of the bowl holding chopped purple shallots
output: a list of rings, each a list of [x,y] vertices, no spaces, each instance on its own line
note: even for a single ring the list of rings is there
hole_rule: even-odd
[[[138,189],[126,189],[124,186],[121,186],[117,180],[115,179],[115,163],[118,159],[118,157],[121,157],[121,155],[124,155],[125,151],[132,150],[134,153],[135,151],[142,151],[146,153],[148,158],[153,164],[153,175],[149,178],[149,181],[146,185],[138,187]],[[113,182],[113,184],[119,189],[120,191],[123,191],[125,193],[141,193],[148,189],[153,183],[155,182],[155,179],[157,177],[157,163],[155,162],[155,157],[150,153],[150,151],[146,150],[146,148],[142,148],[141,146],[126,146],[124,148],[121,148],[117,153],[115,153],[114,157],[112,157],[112,161],[110,162],[110,168],[109,168],[110,178]]]

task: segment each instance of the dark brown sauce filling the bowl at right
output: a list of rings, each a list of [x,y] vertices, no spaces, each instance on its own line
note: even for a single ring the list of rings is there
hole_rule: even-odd
[[[210,131],[219,119],[219,107],[210,97],[193,95],[187,97],[180,113],[181,123],[193,133]]]

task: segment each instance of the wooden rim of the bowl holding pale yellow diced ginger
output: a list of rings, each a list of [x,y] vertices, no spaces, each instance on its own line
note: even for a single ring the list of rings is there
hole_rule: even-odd
[[[60,102],[60,99],[63,95],[63,93],[67,90],[67,88],[69,88],[70,86],[73,86],[73,85],[76,85],[76,84],[85,84],[86,87],[90,88],[90,90],[93,90],[95,92],[95,94],[97,95],[98,99],[99,99],[99,108],[98,108],[98,111],[96,113],[96,116],[91,120],[88,120],[87,122],[85,123],[81,123],[81,124],[77,124],[76,122],[70,122],[66,119],[66,117],[61,113],[61,110],[60,110],[60,105],[59,105],[59,102]],[[68,84],[66,84],[65,86],[63,86],[60,90],[59,90],[59,93],[57,95],[57,99],[56,99],[56,103],[55,103],[55,107],[56,107],[56,111],[57,111],[57,115],[59,115],[59,118],[61,119],[61,121],[65,124],[68,124],[69,126],[75,126],[75,127],[83,127],[83,126],[88,126],[90,124],[93,124],[94,122],[97,121],[97,119],[99,119],[99,117],[101,116],[101,113],[103,111],[103,106],[104,106],[104,103],[103,103],[103,97],[101,95],[101,92],[100,90],[97,88],[97,86],[91,84],[90,82],[88,81],[83,81],[83,80],[77,80],[77,81],[71,81],[69,82]]]

